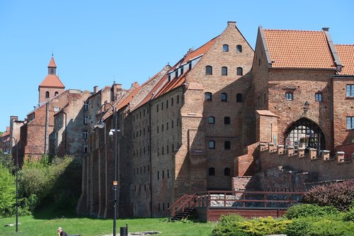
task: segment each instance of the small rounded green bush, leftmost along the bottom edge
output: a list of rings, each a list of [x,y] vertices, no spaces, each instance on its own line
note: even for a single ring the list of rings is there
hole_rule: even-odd
[[[241,230],[239,223],[243,222],[244,218],[240,215],[222,215],[219,223],[212,230],[213,236],[247,236],[248,234]]]

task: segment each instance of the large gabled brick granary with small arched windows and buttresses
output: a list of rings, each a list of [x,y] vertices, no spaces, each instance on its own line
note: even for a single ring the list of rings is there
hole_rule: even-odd
[[[219,36],[113,104],[120,129],[120,216],[166,216],[183,193],[231,189],[234,157],[255,139],[242,138],[252,125],[252,118],[242,122],[249,116],[244,104],[252,60],[251,46],[229,22]],[[79,213],[113,215],[113,117],[105,113],[105,129],[90,136]]]

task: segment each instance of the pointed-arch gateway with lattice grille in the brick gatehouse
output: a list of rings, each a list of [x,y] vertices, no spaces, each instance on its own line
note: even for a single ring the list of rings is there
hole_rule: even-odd
[[[321,128],[307,118],[300,118],[292,123],[285,131],[284,137],[285,147],[294,146],[295,150],[299,147],[305,147],[305,150],[314,148],[319,153],[326,148],[326,140]]]

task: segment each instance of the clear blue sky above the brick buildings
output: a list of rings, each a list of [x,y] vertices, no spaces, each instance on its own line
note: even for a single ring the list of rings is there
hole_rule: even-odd
[[[142,84],[190,47],[236,21],[250,45],[258,26],[321,30],[354,44],[354,1],[42,1],[0,0],[0,130],[24,120],[54,53],[66,89]]]

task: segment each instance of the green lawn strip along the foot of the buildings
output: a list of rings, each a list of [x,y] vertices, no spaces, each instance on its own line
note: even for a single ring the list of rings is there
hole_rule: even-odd
[[[0,218],[0,235],[55,235],[57,227],[62,227],[69,235],[96,236],[113,234],[113,220],[78,218],[68,216],[46,209],[34,215],[20,217],[18,232],[15,227],[4,227],[8,223],[15,223],[16,218]],[[139,218],[117,220],[117,233],[120,227],[128,224],[128,232],[159,231],[159,236],[207,236],[211,235],[215,223],[193,223],[190,220],[170,222],[168,218]],[[157,235],[156,235],[157,236]]]

